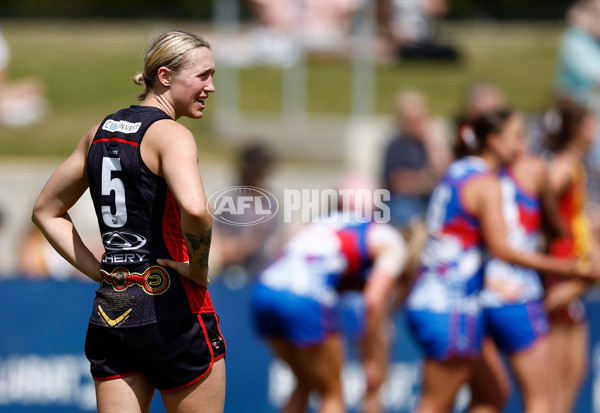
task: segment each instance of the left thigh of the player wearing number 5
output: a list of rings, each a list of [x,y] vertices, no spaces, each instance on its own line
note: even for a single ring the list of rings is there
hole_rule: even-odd
[[[145,413],[150,411],[154,387],[141,374],[96,381],[98,413]]]

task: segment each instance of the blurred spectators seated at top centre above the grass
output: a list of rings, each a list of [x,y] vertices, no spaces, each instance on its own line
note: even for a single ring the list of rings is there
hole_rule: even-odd
[[[348,57],[350,39],[365,19],[376,22],[374,50],[380,62],[459,59],[440,39],[437,22],[446,0],[249,0],[256,24],[221,58],[236,66],[289,67],[301,57]]]

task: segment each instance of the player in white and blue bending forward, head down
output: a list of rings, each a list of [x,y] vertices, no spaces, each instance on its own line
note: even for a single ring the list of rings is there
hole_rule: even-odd
[[[358,194],[358,195],[357,195]],[[389,224],[357,219],[372,196],[354,191],[348,204],[297,233],[260,275],[252,306],[256,328],[296,377],[285,412],[305,412],[311,391],[320,412],[345,411],[344,344],[336,306],[344,291],[361,291],[365,318],[360,342],[367,408],[385,380],[387,320],[407,248]],[[367,215],[363,215],[367,217]],[[360,317],[359,317],[360,318]]]

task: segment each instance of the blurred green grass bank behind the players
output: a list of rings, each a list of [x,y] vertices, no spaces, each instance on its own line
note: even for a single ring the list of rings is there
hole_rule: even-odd
[[[48,86],[51,112],[22,129],[0,127],[0,154],[64,156],[94,123],[110,111],[135,103],[140,88],[131,77],[141,69],[153,34],[170,28],[207,33],[207,25],[174,23],[98,23],[4,21],[12,49],[11,76],[37,76]],[[435,112],[453,116],[468,84],[488,79],[506,90],[525,111],[539,109],[551,93],[562,25],[452,23],[442,28],[457,44],[460,64],[403,63],[377,68],[377,112],[389,113],[400,88],[421,89]],[[348,113],[351,67],[345,61],[315,61],[308,69],[308,110]],[[218,76],[218,67],[217,67]],[[241,72],[242,109],[277,111],[281,72],[272,68]],[[217,92],[218,93],[218,92]],[[205,151],[222,153],[217,132],[206,119],[186,122]]]

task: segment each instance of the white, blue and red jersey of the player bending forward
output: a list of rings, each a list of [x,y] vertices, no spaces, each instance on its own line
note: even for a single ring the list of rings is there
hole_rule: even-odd
[[[300,231],[262,272],[260,283],[327,306],[337,303],[340,291],[362,290],[372,266],[366,243],[372,223],[341,218],[334,214]]]

